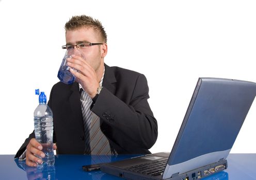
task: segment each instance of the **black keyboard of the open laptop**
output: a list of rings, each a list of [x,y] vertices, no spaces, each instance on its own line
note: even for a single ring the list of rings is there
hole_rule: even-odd
[[[151,176],[162,175],[168,159],[152,160],[150,163],[140,164],[126,168],[127,170],[138,172],[141,174],[148,174]]]

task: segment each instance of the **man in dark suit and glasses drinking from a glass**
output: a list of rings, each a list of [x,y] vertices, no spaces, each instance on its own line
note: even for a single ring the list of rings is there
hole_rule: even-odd
[[[72,55],[68,66],[77,70],[70,69],[76,82],[58,82],[51,91],[48,105],[54,116],[57,154],[150,153],[148,149],[157,139],[157,122],[147,101],[146,77],[104,64],[107,35],[98,20],[86,15],[73,16],[65,29],[66,45],[62,48],[77,48],[86,60]],[[89,102],[87,109],[84,102]],[[98,121],[93,121],[97,118]],[[100,145],[92,140],[94,122],[99,123],[97,141]],[[101,140],[104,138],[105,141]],[[97,146],[100,147],[95,150]],[[37,166],[42,161],[35,155],[44,157],[41,150],[33,132],[15,157],[24,155],[25,151],[26,164]]]

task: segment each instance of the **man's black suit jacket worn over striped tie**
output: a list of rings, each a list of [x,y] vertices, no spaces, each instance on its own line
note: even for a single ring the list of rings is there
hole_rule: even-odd
[[[91,111],[100,117],[101,130],[118,154],[148,154],[157,139],[157,122],[150,109],[144,75],[105,64],[103,88]],[[54,142],[58,154],[83,154],[85,137],[78,83],[61,82],[52,88],[48,105],[53,111]],[[35,137],[25,140],[15,157]]]

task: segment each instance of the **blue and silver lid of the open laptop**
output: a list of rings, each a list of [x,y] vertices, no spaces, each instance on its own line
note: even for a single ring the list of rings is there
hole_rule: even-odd
[[[256,95],[256,83],[199,78],[163,178],[227,158]]]

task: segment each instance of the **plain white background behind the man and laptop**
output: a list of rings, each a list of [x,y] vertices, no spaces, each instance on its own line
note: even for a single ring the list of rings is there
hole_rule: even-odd
[[[72,15],[102,22],[108,34],[106,64],[147,77],[158,120],[151,151],[170,152],[198,77],[256,82],[255,9],[256,2],[247,0],[0,0],[0,154],[15,154],[33,131],[35,89],[49,98],[58,82],[63,27]],[[256,153],[255,104],[232,153]]]

